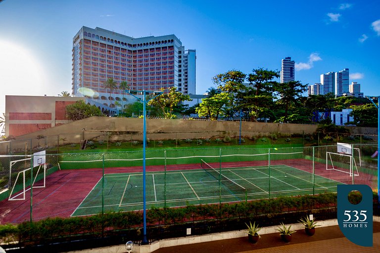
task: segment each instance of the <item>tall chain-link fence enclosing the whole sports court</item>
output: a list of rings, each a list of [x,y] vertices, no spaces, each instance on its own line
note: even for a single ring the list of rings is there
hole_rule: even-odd
[[[369,144],[147,150],[146,207],[313,195],[335,192],[337,184],[375,190],[376,150]],[[46,154],[35,166],[37,155],[1,155],[0,224],[142,210],[142,157],[141,150]]]

